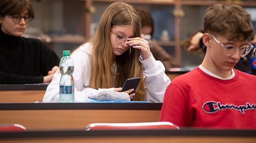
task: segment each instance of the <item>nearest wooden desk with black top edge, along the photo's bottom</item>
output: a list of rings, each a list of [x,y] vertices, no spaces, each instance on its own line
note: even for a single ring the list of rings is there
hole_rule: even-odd
[[[256,130],[62,130],[0,133],[3,143],[255,143]]]

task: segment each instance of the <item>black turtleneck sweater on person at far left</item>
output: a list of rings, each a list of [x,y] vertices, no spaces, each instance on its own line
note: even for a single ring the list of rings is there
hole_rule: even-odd
[[[40,40],[9,36],[0,30],[0,84],[43,83],[59,57]]]

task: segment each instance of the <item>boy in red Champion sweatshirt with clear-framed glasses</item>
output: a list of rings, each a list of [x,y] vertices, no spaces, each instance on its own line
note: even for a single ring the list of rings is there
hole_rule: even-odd
[[[167,87],[159,121],[182,127],[256,128],[256,76],[234,69],[253,48],[251,17],[215,4],[204,15],[202,64]]]

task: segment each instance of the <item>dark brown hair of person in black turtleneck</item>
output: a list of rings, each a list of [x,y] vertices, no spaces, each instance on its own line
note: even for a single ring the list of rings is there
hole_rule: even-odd
[[[25,10],[28,10],[30,17],[35,18],[35,13],[29,0],[1,0],[0,2],[0,17],[22,14]]]

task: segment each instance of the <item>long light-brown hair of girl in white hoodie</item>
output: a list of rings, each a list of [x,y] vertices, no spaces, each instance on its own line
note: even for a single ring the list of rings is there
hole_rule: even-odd
[[[140,50],[129,48],[114,59],[110,30],[114,26],[132,26],[135,36],[141,34],[141,19],[135,9],[126,2],[114,2],[106,8],[100,18],[95,35],[89,42],[93,45],[91,61],[91,88],[122,87],[127,78],[141,77],[134,101],[143,101],[146,90],[143,82],[143,67],[139,62]],[[113,71],[116,62],[117,72]]]

